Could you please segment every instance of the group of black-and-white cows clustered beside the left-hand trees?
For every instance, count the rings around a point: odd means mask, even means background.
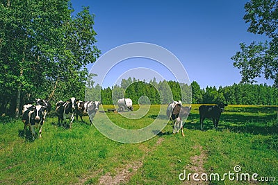
[[[74,117],[78,116],[83,121],[82,116],[90,115],[90,125],[99,109],[99,101],[80,101],[74,97],[66,101],[58,101],[56,103],[55,114],[58,116],[58,125],[64,127],[72,127]],[[35,105],[28,103],[23,105],[22,122],[24,123],[24,136],[26,136],[26,128],[29,127],[33,140],[35,139],[35,128],[39,128],[40,137],[42,137],[42,125],[44,124],[47,113],[51,110],[51,105],[47,100],[36,99]],[[67,119],[70,123],[67,124]]]

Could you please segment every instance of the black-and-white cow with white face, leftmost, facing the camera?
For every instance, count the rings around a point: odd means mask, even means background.
[[[29,127],[32,132],[33,141],[35,140],[35,127],[40,128],[40,137],[42,137],[43,125],[43,110],[42,105],[32,105],[28,107],[22,115],[22,122],[24,123],[24,135],[26,136],[26,127]]]

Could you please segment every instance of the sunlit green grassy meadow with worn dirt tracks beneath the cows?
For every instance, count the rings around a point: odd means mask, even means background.
[[[166,124],[167,105],[162,106],[160,116],[160,105],[152,105],[140,119],[97,112],[94,121],[107,115],[116,125],[132,130],[156,118]],[[30,132],[24,138],[22,121],[1,117],[0,184],[277,184],[277,107],[229,105],[220,117],[218,130],[206,119],[203,132],[198,107],[193,105],[184,125],[186,136],[172,134],[169,122],[152,139],[135,144],[106,138],[94,125],[86,124],[88,116],[83,118],[86,123],[74,121],[72,129],[58,127],[58,119],[48,117],[42,139],[35,141],[31,141]],[[134,108],[139,109],[138,105]],[[140,112],[124,114],[136,116]],[[256,173],[261,181],[236,180],[235,166],[241,168],[238,178],[240,173]],[[186,175],[198,173],[199,178],[202,173],[217,173],[220,179],[194,182],[191,175],[188,182],[179,179],[185,171]],[[234,180],[224,176],[229,172],[235,173]]]

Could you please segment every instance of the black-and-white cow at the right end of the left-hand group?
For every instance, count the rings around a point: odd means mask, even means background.
[[[79,101],[76,103],[76,120],[78,120],[78,116],[80,116],[81,121],[84,122],[82,116],[89,115],[90,125],[92,125],[92,119],[99,109],[99,104],[99,101]]]

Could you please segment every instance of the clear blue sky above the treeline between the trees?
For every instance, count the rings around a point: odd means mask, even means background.
[[[147,42],[172,52],[183,64],[190,82],[201,88],[222,87],[240,82],[239,70],[233,67],[233,56],[240,42],[264,41],[264,35],[247,33],[244,4],[247,1],[72,1],[76,12],[89,6],[95,15],[97,47],[101,55],[122,44]],[[88,65],[88,69],[92,64]],[[112,86],[125,71],[145,67],[166,80],[174,76],[158,62],[132,58],[108,71],[102,85]],[[141,73],[152,78],[152,73]],[[272,85],[271,80],[258,79]]]

